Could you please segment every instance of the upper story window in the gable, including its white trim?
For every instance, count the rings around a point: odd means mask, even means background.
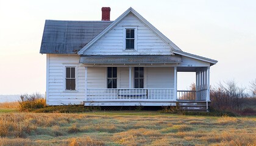
[[[137,27],[124,27],[124,50],[137,50]]]

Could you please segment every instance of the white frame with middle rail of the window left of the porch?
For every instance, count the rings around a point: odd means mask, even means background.
[[[66,68],[75,68],[75,89],[74,90],[69,90],[69,89],[66,89]],[[64,74],[63,74],[63,92],[78,92],[78,88],[77,88],[77,85],[78,85],[78,83],[77,83],[77,79],[78,79],[78,72],[77,72],[77,65],[68,65],[68,66],[63,66],[63,72],[64,72]]]

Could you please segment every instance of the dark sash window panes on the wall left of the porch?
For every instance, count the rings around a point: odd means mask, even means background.
[[[66,68],[66,90],[76,90],[76,68]]]

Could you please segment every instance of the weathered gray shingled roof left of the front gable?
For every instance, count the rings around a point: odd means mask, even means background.
[[[76,54],[113,21],[46,20],[41,54]]]

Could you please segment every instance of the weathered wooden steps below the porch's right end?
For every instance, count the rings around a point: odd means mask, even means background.
[[[204,101],[179,101],[177,102],[180,110],[185,111],[207,111],[207,103]],[[209,105],[210,102],[208,102]]]

